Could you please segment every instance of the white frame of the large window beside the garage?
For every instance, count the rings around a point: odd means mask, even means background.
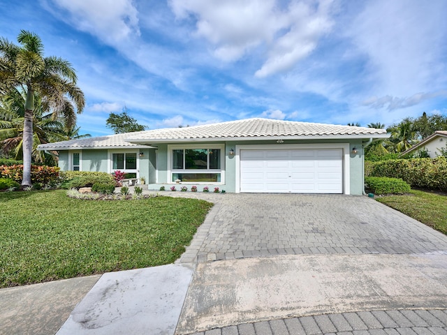
[[[186,169],[184,154],[183,154],[183,169],[174,169],[173,168],[173,152],[174,150],[186,150],[186,149],[207,149],[207,150],[220,150],[220,168],[219,169],[209,169],[210,158],[207,158],[207,169]],[[203,144],[170,144],[168,145],[168,184],[175,184],[173,181],[173,174],[175,173],[195,173],[195,174],[211,174],[216,173],[220,174],[221,181],[182,181],[182,184],[197,184],[197,185],[206,185],[206,184],[216,184],[223,185],[225,184],[225,144],[212,144],[212,143],[203,143]]]

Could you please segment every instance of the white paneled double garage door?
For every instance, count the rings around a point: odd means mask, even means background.
[[[240,191],[343,193],[343,151],[241,150]]]

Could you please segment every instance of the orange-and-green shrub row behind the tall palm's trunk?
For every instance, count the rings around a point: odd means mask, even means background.
[[[1,165],[0,177],[13,179],[17,183],[21,183],[23,179],[23,165]],[[31,183],[33,185],[55,185],[59,181],[59,168],[47,165],[31,165]]]

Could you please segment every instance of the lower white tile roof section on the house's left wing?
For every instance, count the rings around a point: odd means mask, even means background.
[[[144,133],[144,132],[135,132]],[[64,150],[64,149],[119,149],[147,147],[141,144],[126,142],[129,133],[105,135],[98,137],[82,138],[80,140],[68,140],[62,142],[40,144],[39,150]]]

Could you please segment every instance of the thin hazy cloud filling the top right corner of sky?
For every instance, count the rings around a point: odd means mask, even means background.
[[[409,96],[445,87],[447,2],[374,0],[347,27],[378,96]],[[399,98],[397,98],[399,99]],[[391,104],[393,105],[393,104]],[[400,105],[399,101],[397,105]],[[403,103],[405,106],[406,103]]]

